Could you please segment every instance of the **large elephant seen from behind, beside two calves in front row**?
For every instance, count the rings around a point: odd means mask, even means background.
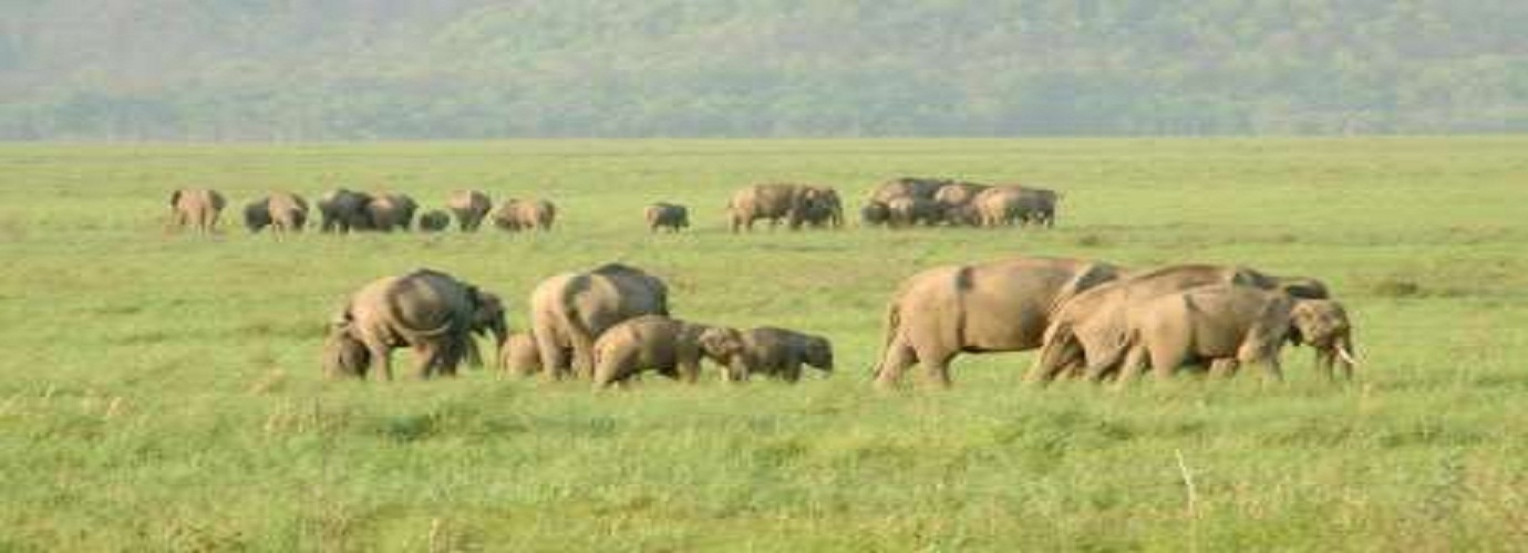
[[[594,339],[640,315],[668,315],[668,284],[631,266],[610,263],[541,281],[530,292],[530,331],[549,377],[588,376]]]

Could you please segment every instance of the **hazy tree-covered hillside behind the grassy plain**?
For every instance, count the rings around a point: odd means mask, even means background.
[[[1523,0],[0,0],[0,139],[1528,131]]]

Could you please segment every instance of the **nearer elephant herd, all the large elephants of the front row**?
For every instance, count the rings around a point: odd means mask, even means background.
[[[529,296],[529,328],[510,333],[503,301],[429,269],[373,281],[332,318],[332,376],[391,379],[390,351],[408,347],[422,377],[481,364],[474,336],[490,335],[512,374],[626,385],[643,371],[695,382],[701,364],[724,380],[796,382],[804,367],[833,371],[833,344],[778,327],[740,330],[674,318],[668,286],[625,264],[555,275]],[[949,385],[960,353],[1039,350],[1025,380],[1131,382],[1144,370],[1230,376],[1258,365],[1282,379],[1285,344],[1309,345],[1328,377],[1352,377],[1352,325],[1325,283],[1239,266],[1177,264],[1126,270],[1103,261],[1022,257],[927,269],[888,304],[877,385],[921,365]]]

